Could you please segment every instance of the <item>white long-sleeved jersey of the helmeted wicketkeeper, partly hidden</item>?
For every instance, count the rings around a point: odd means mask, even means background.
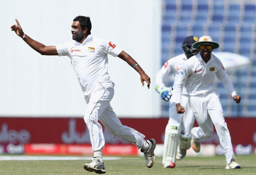
[[[165,62],[164,66],[156,74],[156,84],[164,84],[164,78],[166,78],[171,71],[173,72],[173,80],[175,82],[175,80],[179,76],[180,70],[182,69],[184,62],[187,60],[188,59],[185,54],[180,54]],[[172,87],[173,93],[175,93],[175,83],[173,84]],[[183,87],[182,94],[188,94],[185,86]]]

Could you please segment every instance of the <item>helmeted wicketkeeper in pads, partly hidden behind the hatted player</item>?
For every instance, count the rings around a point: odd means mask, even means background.
[[[164,154],[163,165],[164,168],[174,168],[175,162],[185,157],[187,149],[190,148],[191,135],[190,130],[193,127],[195,118],[192,110],[188,105],[188,93],[183,87],[181,101],[185,107],[186,112],[178,114],[176,112],[175,98],[171,98],[172,93],[175,93],[175,83],[173,90],[171,87],[167,88],[164,85],[164,79],[172,71],[174,75],[174,82],[177,79],[183,64],[193,55],[198,53],[197,49],[191,48],[192,44],[198,41],[196,36],[188,36],[183,40],[182,49],[184,54],[178,55],[169,59],[164,63],[164,66],[156,74],[156,91],[161,98],[170,102],[169,106],[169,121],[165,128],[164,136]],[[179,145],[180,142],[180,145]],[[179,145],[179,151],[177,147]],[[177,152],[177,155],[176,155]]]

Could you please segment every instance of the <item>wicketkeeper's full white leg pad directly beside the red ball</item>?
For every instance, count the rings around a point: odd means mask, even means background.
[[[176,162],[176,153],[180,140],[180,123],[168,123],[164,135],[163,165]]]

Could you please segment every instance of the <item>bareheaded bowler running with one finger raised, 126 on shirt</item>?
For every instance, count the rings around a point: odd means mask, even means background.
[[[90,133],[92,150],[94,156],[90,164],[85,164],[86,171],[98,174],[106,173],[102,159],[104,148],[104,136],[100,122],[110,131],[132,144],[136,145],[144,153],[146,165],[151,168],[155,162],[154,139],[144,140],[145,135],[138,131],[122,125],[117,118],[110,101],[114,95],[114,83],[108,76],[108,54],[118,56],[132,66],[139,74],[142,86],[144,81],[150,85],[150,78],[138,65],[138,63],[121,48],[108,40],[102,40],[91,35],[91,20],[89,17],[77,16],[72,24],[72,39],[56,46],[45,46],[25,34],[18,22],[12,25],[12,31],[21,37],[30,47],[42,55],[68,56],[76,72],[78,81],[82,87],[87,109],[84,114],[84,121]]]

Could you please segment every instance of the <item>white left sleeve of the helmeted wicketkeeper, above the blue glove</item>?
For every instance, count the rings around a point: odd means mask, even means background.
[[[171,59],[164,63],[163,67],[156,74],[156,84],[163,84],[164,78],[166,78],[172,71],[172,61]]]

